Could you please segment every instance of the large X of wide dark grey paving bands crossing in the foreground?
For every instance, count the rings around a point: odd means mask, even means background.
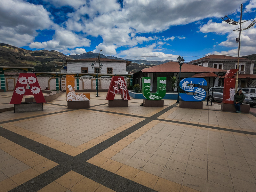
[[[177,105],[177,104],[176,104]],[[176,106],[175,105],[175,106]],[[157,116],[161,116],[166,111],[170,110],[172,106],[169,106],[168,108],[163,109],[162,111],[156,113],[155,115],[151,116],[152,118],[156,118]],[[123,191],[155,191],[153,189],[150,189],[148,187],[145,187],[139,183],[136,183],[134,181],[128,180],[126,178],[123,178],[119,175],[116,175],[115,173],[109,172],[107,170],[104,170],[100,167],[97,167],[95,165],[86,163],[88,159],[92,158],[93,156],[97,155],[101,151],[105,150],[109,146],[115,144],[117,141],[123,139],[127,135],[131,134],[132,132],[138,130],[143,125],[148,124],[153,119],[147,118],[138,124],[133,125],[132,127],[116,134],[115,136],[109,138],[108,140],[105,140],[101,142],[100,144],[94,146],[93,148],[90,148],[86,150],[85,152],[75,156],[71,157],[65,153],[62,153],[58,150],[55,150],[53,148],[50,148],[46,145],[40,144],[34,140],[30,140],[24,136],[21,136],[17,133],[14,133],[12,131],[6,130],[4,128],[0,129],[0,135],[5,137],[8,140],[11,140],[25,148],[28,148],[31,151],[34,151],[35,153],[46,157],[47,159],[50,159],[60,165],[52,168],[51,170],[40,174],[39,176],[23,183],[22,185],[12,189],[11,191],[24,191],[24,189],[28,189],[28,191],[37,191],[46,185],[50,184],[54,180],[58,179],[65,173],[73,170],[75,172],[78,172],[84,176],[86,176],[89,179],[92,179],[108,188],[111,188],[117,192],[123,192]],[[57,151],[57,153],[56,153]],[[54,154],[54,155],[53,155]],[[71,167],[70,167],[71,166]],[[62,167],[61,169],[59,167]],[[56,171],[57,170],[57,171]],[[106,179],[108,178],[108,179]],[[33,184],[31,184],[33,183]],[[125,184],[125,185],[124,185]],[[124,188],[124,186],[126,186]]]

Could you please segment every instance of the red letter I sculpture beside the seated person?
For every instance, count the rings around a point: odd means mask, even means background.
[[[224,77],[223,103],[234,103],[236,79],[232,78],[238,69],[229,69]]]

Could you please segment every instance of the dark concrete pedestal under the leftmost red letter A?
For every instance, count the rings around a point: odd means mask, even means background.
[[[33,111],[43,111],[43,103],[29,102],[21,104],[13,104],[14,113],[23,113],[23,112],[33,112]]]

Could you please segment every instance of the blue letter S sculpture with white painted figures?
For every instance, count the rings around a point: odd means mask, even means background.
[[[207,82],[204,78],[195,78],[195,77],[189,77],[182,79],[180,81],[180,89],[187,91],[187,92],[193,92],[196,93],[196,95],[188,95],[187,93],[180,93],[179,96],[183,101],[202,101],[205,99],[206,92],[204,89],[200,87],[192,87],[188,86],[188,84],[199,84],[199,85],[207,85]]]

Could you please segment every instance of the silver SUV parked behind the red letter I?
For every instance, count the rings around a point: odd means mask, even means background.
[[[213,95],[212,95],[212,89],[213,89]],[[251,95],[246,92],[244,92],[244,101],[243,103],[250,104],[251,107],[256,105],[256,95]],[[223,87],[213,87],[209,89],[209,95],[207,100],[209,102],[211,101],[222,101],[223,98]]]

